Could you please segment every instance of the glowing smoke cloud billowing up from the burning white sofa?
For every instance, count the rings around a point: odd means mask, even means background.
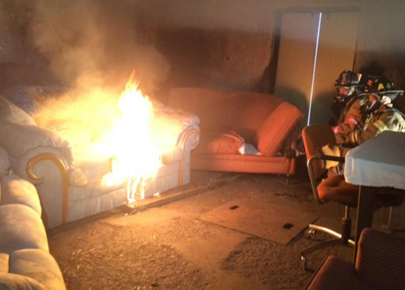
[[[68,87],[43,102],[33,117],[71,143],[105,139],[132,71],[143,94],[153,95],[166,79],[170,66],[154,48],[153,22],[137,1],[37,0],[30,5],[32,42]]]

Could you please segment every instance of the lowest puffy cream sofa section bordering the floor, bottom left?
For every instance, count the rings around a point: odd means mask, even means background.
[[[10,273],[31,277],[47,289],[66,289],[55,259],[39,249],[22,249],[10,254]]]

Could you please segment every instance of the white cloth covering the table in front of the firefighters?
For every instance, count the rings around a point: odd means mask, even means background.
[[[405,190],[405,133],[384,131],[350,150],[344,172],[351,184]]]

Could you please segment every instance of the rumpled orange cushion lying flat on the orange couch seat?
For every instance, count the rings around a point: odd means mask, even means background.
[[[193,151],[193,154],[239,154],[239,148],[243,143],[241,136],[233,131],[207,132],[202,134],[200,145]]]

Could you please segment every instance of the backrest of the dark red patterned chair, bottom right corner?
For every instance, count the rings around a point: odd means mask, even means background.
[[[405,289],[405,239],[364,229],[359,240],[356,276],[373,289]]]

